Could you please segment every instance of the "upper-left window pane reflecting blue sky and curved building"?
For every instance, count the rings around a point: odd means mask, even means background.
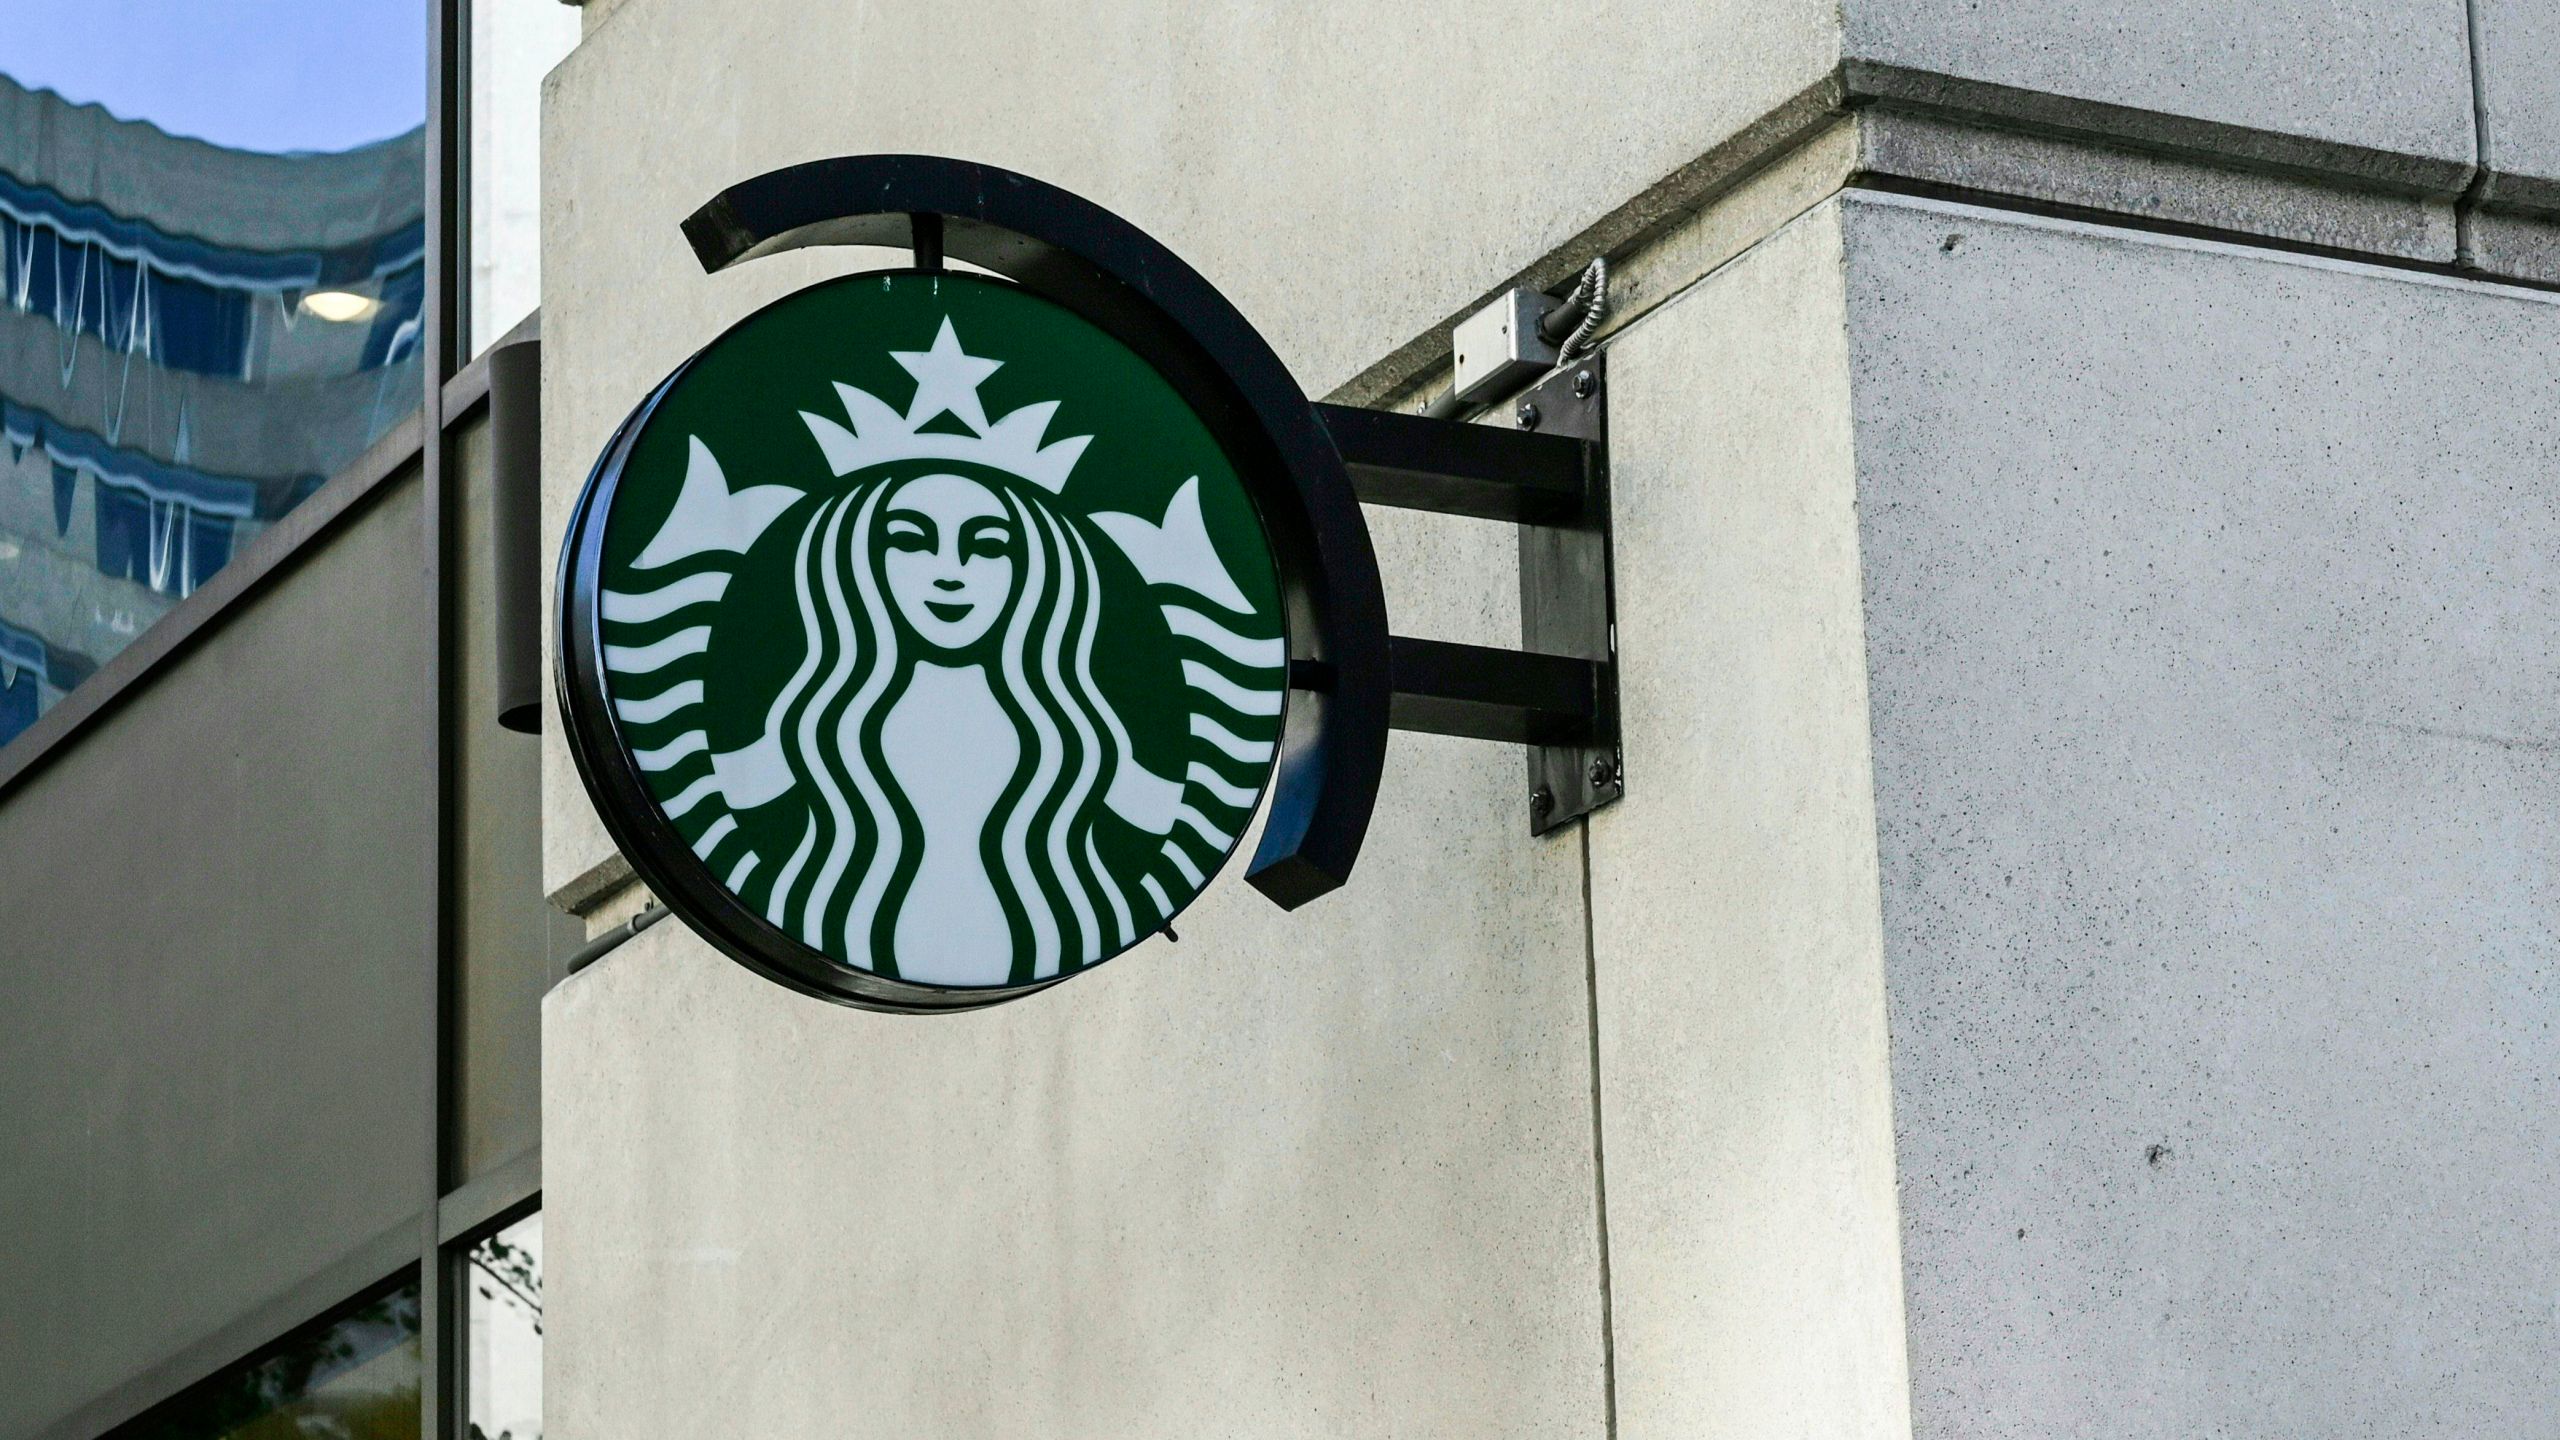
[[[422,392],[420,0],[13,0],[0,743]]]

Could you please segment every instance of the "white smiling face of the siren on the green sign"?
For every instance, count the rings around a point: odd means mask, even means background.
[[[988,487],[957,474],[911,479],[888,500],[881,530],[888,594],[927,646],[960,651],[996,625],[1021,546]]]

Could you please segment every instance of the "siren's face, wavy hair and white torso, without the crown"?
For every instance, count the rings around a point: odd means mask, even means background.
[[[806,656],[773,715],[814,802],[768,915],[924,984],[1019,984],[1134,940],[1147,894],[1093,828],[1162,835],[1183,787],[1137,761],[1093,679],[1101,569],[1075,520],[996,477],[865,479],[812,512],[796,574]]]

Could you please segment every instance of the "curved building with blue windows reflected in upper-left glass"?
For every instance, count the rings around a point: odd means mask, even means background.
[[[0,743],[417,410],[422,164],[0,77]]]

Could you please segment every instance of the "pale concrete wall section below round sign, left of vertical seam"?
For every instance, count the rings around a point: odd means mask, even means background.
[[[1400,625],[1518,635],[1510,536],[1380,518]],[[1597,1437],[1577,835],[1398,735],[1354,884],[1229,876],[960,1017],[658,925],[545,1004],[545,1432]]]

